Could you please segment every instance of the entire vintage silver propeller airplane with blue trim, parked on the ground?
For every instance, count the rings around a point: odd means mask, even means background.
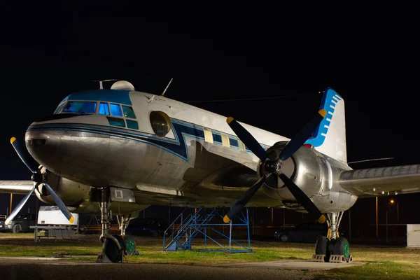
[[[344,100],[331,88],[292,139],[137,92],[120,80],[111,89],[101,83],[99,90],[70,94],[54,114],[28,127],[27,149],[14,137],[10,142],[32,176],[0,181],[3,193],[27,193],[6,223],[32,193],[57,204],[69,221],[71,212],[101,213],[102,257],[113,262],[130,241],[130,218],[151,204],[230,207],[225,223],[243,207],[307,211],[329,228],[316,241],[315,255],[349,261],[349,242],[338,228],[358,197],[420,191],[420,165],[347,165]],[[107,230],[111,211],[123,216],[121,235]]]

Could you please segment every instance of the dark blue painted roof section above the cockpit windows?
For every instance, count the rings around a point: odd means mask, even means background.
[[[62,102],[68,99],[115,102],[132,105],[129,93],[129,90],[87,90],[70,94],[68,97],[64,98]]]

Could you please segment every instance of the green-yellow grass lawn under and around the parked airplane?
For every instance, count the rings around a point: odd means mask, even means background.
[[[195,239],[193,249],[204,248],[203,239]],[[267,260],[310,260],[314,244],[251,241],[253,253],[223,253],[199,251],[162,251],[162,239],[136,237],[140,255],[127,257],[129,262],[209,265],[225,262],[260,262]],[[207,248],[220,249],[213,243]],[[243,244],[246,244],[244,242]],[[228,244],[226,244],[228,246]],[[235,247],[238,248],[238,247]],[[34,242],[33,234],[0,234],[0,256],[45,255],[73,253],[85,255],[71,260],[94,261],[102,251],[97,235],[80,235],[79,239],[41,239]],[[354,262],[365,265],[341,269],[308,272],[314,279],[420,279],[420,249],[391,246],[351,245]]]

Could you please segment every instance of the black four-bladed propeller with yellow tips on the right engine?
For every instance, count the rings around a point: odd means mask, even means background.
[[[309,123],[307,123],[307,125],[305,125],[302,130],[300,130],[300,132],[298,132],[295,137],[288,142],[286,147],[283,148],[283,151],[281,151],[279,157],[276,159],[269,158],[258,141],[236,120],[231,117],[226,120],[230,128],[232,128],[235,134],[237,134],[237,137],[239,137],[249,150],[251,150],[251,152],[253,152],[261,160],[261,164],[265,167],[265,174],[263,174],[262,177],[251,188],[249,188],[241,198],[239,198],[228,214],[225,215],[223,218],[225,223],[229,223],[230,220],[232,220],[232,218],[245,207],[269,176],[275,176],[275,181],[277,181],[276,176],[279,176],[297,202],[300,202],[302,207],[304,207],[309,214],[318,219],[319,223],[325,222],[325,216],[323,216],[321,211],[319,211],[314,202],[312,202],[309,197],[298,186],[296,186],[296,184],[293,183],[288,176],[286,176],[286,174],[281,172],[280,162],[290,158],[304,144],[304,142],[311,137],[311,134],[314,130],[316,130],[316,127],[318,127],[323,118],[325,118],[326,113],[327,112],[324,109],[318,111],[314,118],[312,118]]]

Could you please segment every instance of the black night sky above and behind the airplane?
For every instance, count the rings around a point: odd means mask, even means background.
[[[10,137],[23,141],[66,95],[105,78],[154,94],[174,78],[165,96],[286,137],[332,87],[346,104],[349,162],[394,158],[353,168],[419,163],[414,2],[116,3],[3,4],[0,179],[30,176]]]

